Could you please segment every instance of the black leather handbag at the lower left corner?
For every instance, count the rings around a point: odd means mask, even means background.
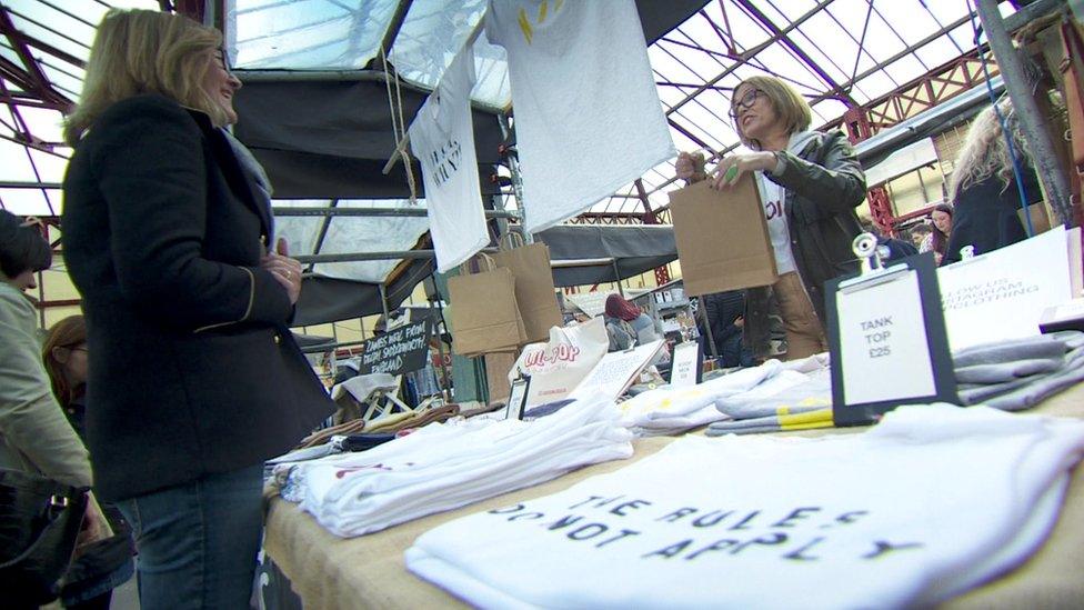
[[[0,591],[13,607],[57,598],[87,510],[87,489],[0,469]]]

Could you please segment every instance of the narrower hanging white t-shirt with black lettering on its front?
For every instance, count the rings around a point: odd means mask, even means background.
[[[464,49],[410,126],[410,146],[422,164],[429,232],[436,270],[449,271],[490,241],[482,211],[471,120],[474,52]]]

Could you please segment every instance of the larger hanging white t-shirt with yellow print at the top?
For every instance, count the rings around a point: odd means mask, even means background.
[[[491,1],[485,36],[508,51],[528,231],[676,154],[633,0]]]

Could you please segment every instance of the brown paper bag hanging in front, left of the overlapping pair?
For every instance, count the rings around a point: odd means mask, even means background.
[[[475,261],[480,261],[478,268],[472,269]],[[513,350],[528,342],[515,301],[515,279],[486,254],[460,266],[460,274],[448,279],[448,292],[455,353]]]

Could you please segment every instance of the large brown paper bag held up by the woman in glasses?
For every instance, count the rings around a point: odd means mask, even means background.
[[[670,192],[685,294],[775,283],[775,254],[753,177],[720,191],[707,181]]]

